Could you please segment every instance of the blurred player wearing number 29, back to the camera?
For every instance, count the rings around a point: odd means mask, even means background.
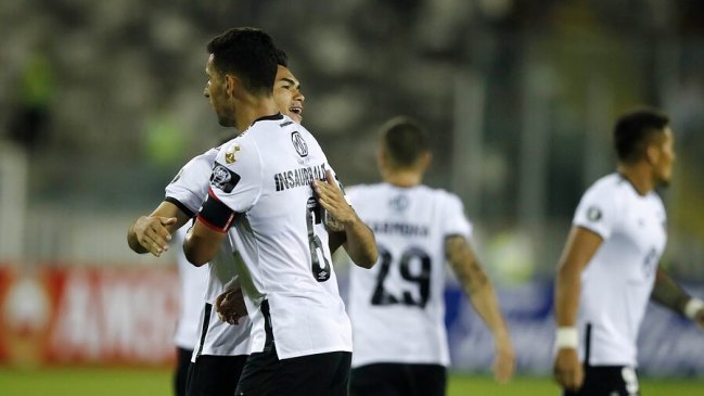
[[[444,314],[445,264],[494,334],[495,374],[508,381],[514,353],[491,283],[472,247],[472,226],[452,193],[423,186],[427,137],[407,117],[382,129],[382,182],[347,189],[376,237],[379,263],[350,269],[349,316],[355,396],[445,395],[450,357]]]

